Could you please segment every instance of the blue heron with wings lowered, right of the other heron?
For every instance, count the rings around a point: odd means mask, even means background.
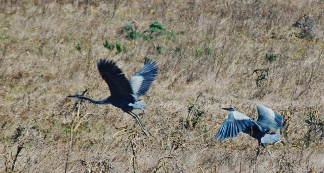
[[[254,121],[254,118],[250,118],[236,111],[233,107],[222,108],[228,110],[230,113],[218,129],[214,138],[222,141],[226,138],[233,138],[240,132],[243,132],[258,140],[259,149],[257,156],[260,152],[260,145],[265,148],[271,156],[270,151],[264,144],[276,142],[280,139],[280,133],[270,133],[270,130],[276,131],[278,128],[282,130],[282,116],[264,105],[257,105],[257,108],[259,113],[257,121]]]

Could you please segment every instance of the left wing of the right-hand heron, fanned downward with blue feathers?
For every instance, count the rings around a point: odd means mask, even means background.
[[[221,127],[218,129],[215,139],[222,141],[226,138],[233,138],[242,131],[247,131],[248,128],[255,125],[255,121],[245,114],[238,111],[231,111],[228,118],[224,120]]]

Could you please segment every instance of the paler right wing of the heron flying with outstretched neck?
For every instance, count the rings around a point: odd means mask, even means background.
[[[142,67],[142,69],[139,72],[135,73],[130,79],[133,93],[136,98],[144,95],[148,91],[156,74],[156,61],[152,61],[152,59],[150,58],[145,59],[144,66]]]

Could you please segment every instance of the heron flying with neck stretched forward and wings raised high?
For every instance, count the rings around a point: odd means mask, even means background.
[[[97,65],[101,77],[109,86],[111,95],[103,100],[93,100],[80,94],[68,97],[85,99],[92,103],[101,105],[111,104],[120,108],[124,112],[132,115],[132,117],[139,123],[144,134],[149,136],[148,131],[144,128],[139,116],[132,111],[133,109],[144,110],[145,108],[145,102],[143,100],[138,100],[138,98],[145,95],[156,77],[156,61],[146,58],[142,69],[135,73],[130,80],[126,78],[125,74],[112,61],[100,59]]]

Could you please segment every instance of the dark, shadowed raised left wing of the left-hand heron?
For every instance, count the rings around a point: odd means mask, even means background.
[[[100,59],[97,63],[101,77],[109,86],[112,97],[119,97],[134,102],[133,90],[129,80],[114,62]]]

